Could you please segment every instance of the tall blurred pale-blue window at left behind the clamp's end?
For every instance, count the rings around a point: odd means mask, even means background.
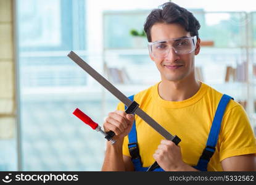
[[[91,130],[86,133],[72,116],[75,107],[100,105],[99,98],[81,93],[86,74],[67,57],[76,50],[86,58],[85,6],[83,0],[17,1],[22,170],[99,166],[88,166],[89,159],[83,157],[93,152],[85,144]],[[88,97],[86,105],[82,96]]]

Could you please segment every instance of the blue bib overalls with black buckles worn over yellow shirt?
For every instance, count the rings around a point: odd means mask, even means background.
[[[129,97],[131,101],[133,101],[133,98],[134,98],[134,95]],[[202,155],[200,156],[197,165],[194,167],[197,170],[207,171],[207,165],[210,161],[210,158],[215,152],[215,146],[218,141],[218,134],[220,133],[223,114],[225,112],[226,105],[228,104],[230,99],[233,99],[233,97],[230,97],[226,94],[223,94],[223,96],[220,99],[215,116],[213,118],[212,127],[210,129],[210,133],[207,139],[205,149],[202,152]],[[125,106],[125,109],[126,108],[127,107]],[[139,155],[135,120],[133,122],[131,131],[128,134],[128,139],[129,139],[128,149],[130,151],[131,160],[133,161],[135,171],[147,171],[147,168],[149,167],[142,167],[141,156]],[[155,168],[154,171],[164,171],[164,170],[162,168]]]

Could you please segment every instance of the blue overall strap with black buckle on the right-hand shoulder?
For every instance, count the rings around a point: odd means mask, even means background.
[[[230,101],[230,99],[233,99],[233,97],[230,97],[226,94],[223,94],[223,96],[220,99],[215,116],[213,118],[213,122],[212,122],[210,133],[207,139],[206,147],[202,152],[202,155],[199,158],[199,161],[196,167],[194,167],[197,170],[207,171],[207,165],[210,161],[210,158],[212,158],[212,155],[215,152],[215,147],[218,142],[218,135],[220,133],[221,122],[226,109],[226,105],[228,105],[228,102]]]

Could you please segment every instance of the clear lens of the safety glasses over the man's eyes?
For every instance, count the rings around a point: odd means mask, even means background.
[[[170,49],[173,49],[176,54],[189,54],[196,49],[196,36],[149,43],[149,52],[157,58],[166,57]]]

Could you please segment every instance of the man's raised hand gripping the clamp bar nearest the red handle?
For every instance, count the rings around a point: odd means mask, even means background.
[[[105,132],[114,131],[114,139],[116,141],[122,141],[130,133],[133,121],[133,114],[127,114],[122,110],[115,110],[115,112],[110,112],[109,116],[105,118],[103,128]]]

